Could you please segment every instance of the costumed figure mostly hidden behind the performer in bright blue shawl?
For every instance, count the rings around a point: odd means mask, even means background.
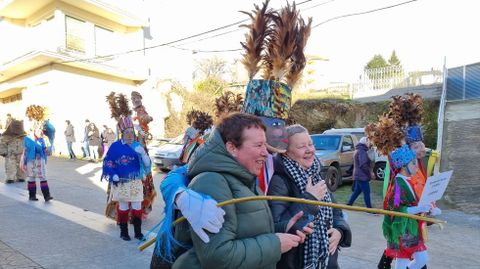
[[[133,110],[135,111],[135,116],[133,117],[134,122],[138,123],[135,125],[137,132],[137,141],[143,145],[145,152],[148,155],[147,142],[152,139],[152,135],[149,133],[148,124],[153,120],[153,118],[147,113],[145,107],[142,104],[142,95],[139,92],[132,91],[131,99],[133,104]],[[155,191],[155,186],[153,184],[153,175],[152,172],[149,172],[143,180],[143,218],[145,219],[152,211],[152,205],[157,197],[157,192]]]

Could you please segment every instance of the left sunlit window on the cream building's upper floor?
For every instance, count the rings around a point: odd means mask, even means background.
[[[87,24],[69,16],[65,16],[65,32],[67,49],[85,52],[88,35]]]

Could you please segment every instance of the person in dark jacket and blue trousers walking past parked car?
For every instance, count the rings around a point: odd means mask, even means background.
[[[353,155],[353,192],[348,200],[347,205],[353,205],[360,193],[363,192],[363,199],[368,208],[372,208],[370,201],[370,180],[372,179],[372,171],[370,170],[370,159],[367,151],[370,148],[370,141],[366,137],[362,137],[355,147]]]

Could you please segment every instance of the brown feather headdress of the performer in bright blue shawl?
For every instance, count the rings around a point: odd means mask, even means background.
[[[107,102],[112,113],[111,116],[118,122],[120,131],[123,132],[127,128],[133,128],[132,110],[125,94],[111,92],[107,96]]]

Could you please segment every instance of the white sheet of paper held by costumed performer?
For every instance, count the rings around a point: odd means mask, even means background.
[[[440,200],[447,189],[452,173],[453,170],[450,170],[429,177],[423,188],[418,205],[428,205],[429,203]]]

